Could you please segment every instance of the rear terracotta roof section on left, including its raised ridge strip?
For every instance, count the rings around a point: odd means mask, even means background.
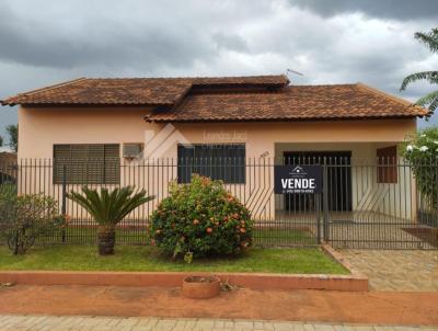
[[[198,78],[82,78],[1,101],[15,104],[173,105],[192,85],[284,87],[286,76]]]

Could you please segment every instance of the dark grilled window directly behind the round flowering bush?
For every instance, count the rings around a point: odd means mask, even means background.
[[[188,183],[193,173],[229,184],[245,183],[244,144],[178,145],[177,158],[178,183]]]

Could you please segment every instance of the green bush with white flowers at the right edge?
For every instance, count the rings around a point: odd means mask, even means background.
[[[438,127],[408,137],[402,145],[402,155],[412,167],[419,192],[438,210]]]

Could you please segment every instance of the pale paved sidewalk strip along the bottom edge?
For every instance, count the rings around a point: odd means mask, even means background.
[[[61,317],[61,316],[0,316],[0,330],[26,331],[410,331],[438,330],[438,328],[366,326],[366,324],[328,324],[263,320],[222,320],[222,319],[164,319],[164,318],[119,318],[119,317]]]

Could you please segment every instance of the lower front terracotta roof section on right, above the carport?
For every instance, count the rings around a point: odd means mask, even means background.
[[[270,93],[188,94],[149,122],[293,121],[428,115],[428,111],[358,84],[291,85]]]

